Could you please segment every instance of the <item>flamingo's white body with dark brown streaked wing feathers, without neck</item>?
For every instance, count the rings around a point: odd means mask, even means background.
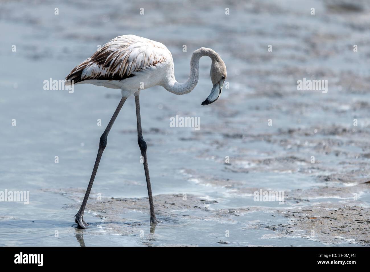
[[[158,74],[171,64],[171,52],[162,43],[135,35],[118,36],[76,66],[66,80],[115,89],[147,89],[160,83]],[[135,78],[128,80],[131,77]]]

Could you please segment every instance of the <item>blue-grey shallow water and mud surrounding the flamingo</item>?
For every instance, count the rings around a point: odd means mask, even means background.
[[[0,190],[30,192],[29,205],[0,202],[0,245],[369,245],[369,25],[360,0],[0,1]],[[155,231],[130,97],[80,230],[74,215],[121,94],[48,91],[44,80],[125,34],[165,44],[179,82],[192,52],[212,48],[229,89],[201,106],[212,89],[203,57],[191,93],[141,92]],[[297,90],[303,78],[328,92]],[[201,129],[170,127],[176,115]],[[285,192],[284,205],[254,201],[260,189]]]

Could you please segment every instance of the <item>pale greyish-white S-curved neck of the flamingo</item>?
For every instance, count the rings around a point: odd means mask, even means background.
[[[184,83],[179,83],[175,79],[174,70],[172,70],[171,77],[162,86],[168,90],[168,92],[174,94],[186,94],[190,93],[198,83],[199,79],[199,59],[203,56],[208,56],[213,61],[218,57],[218,54],[210,48],[199,48],[195,50],[190,60],[190,76]]]

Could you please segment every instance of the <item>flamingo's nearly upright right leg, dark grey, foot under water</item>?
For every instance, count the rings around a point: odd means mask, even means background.
[[[154,212],[152,187],[150,185],[148,160],[147,160],[147,143],[144,141],[144,139],[142,137],[141,117],[140,117],[140,102],[139,102],[139,95],[138,94],[135,95],[135,105],[136,105],[136,120],[137,120],[137,125],[138,125],[138,144],[139,144],[139,147],[140,147],[141,156],[143,157],[143,160],[144,160],[145,179],[147,180],[147,187],[148,187],[149,206],[150,206],[150,222],[151,222],[151,224],[156,224],[156,223],[159,223],[159,221],[155,217],[155,212]]]

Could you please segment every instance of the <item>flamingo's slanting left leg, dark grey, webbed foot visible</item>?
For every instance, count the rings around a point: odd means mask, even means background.
[[[114,123],[115,119],[117,118],[117,115],[120,112],[120,110],[121,110],[123,104],[125,103],[126,99],[127,99],[127,97],[122,97],[120,103],[117,106],[117,109],[115,110],[111,120],[108,123],[107,128],[104,130],[103,134],[100,137],[98,155],[96,156],[95,165],[94,165],[94,169],[92,170],[92,173],[91,173],[90,182],[89,182],[89,185],[87,186],[87,190],[86,190],[86,193],[85,193],[84,200],[81,204],[81,208],[80,208],[80,210],[78,210],[77,214],[75,215],[75,218],[76,218],[75,222],[78,224],[78,226],[80,228],[85,229],[88,226],[88,224],[85,222],[85,220],[83,218],[86,203],[87,203],[87,200],[88,200],[89,195],[90,195],[92,183],[94,182],[95,175],[96,175],[96,172],[98,170],[98,166],[99,166],[99,163],[100,163],[101,156],[103,155],[103,151],[104,151],[105,147],[107,146],[108,133],[110,132],[110,130],[113,126],[113,123]]]

